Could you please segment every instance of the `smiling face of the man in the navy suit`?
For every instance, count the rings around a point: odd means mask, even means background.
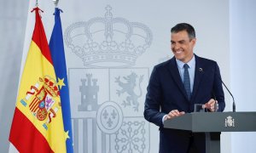
[[[171,35],[172,53],[176,59],[188,63],[193,58],[193,48],[196,39],[190,39],[187,31],[178,31]]]

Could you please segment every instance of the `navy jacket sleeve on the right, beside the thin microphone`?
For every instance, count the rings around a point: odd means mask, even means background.
[[[224,111],[225,101],[224,101],[224,91],[222,87],[220,71],[218,68],[218,64],[215,65],[215,76],[214,76],[214,85],[213,90],[218,101],[218,111]]]

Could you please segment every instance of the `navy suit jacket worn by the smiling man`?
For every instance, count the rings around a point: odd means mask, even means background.
[[[190,101],[183,87],[175,57],[154,66],[147,89],[144,117],[148,122],[160,127],[160,143],[165,144],[165,141],[168,141],[166,144],[169,145],[168,147],[179,145],[173,141],[177,139],[175,138],[177,135],[175,136],[171,129],[163,127],[162,118],[170,111],[193,112],[195,104],[205,104],[214,97],[218,100],[218,111],[224,111],[224,91],[220,71],[218,64],[211,59],[195,55],[195,80]]]

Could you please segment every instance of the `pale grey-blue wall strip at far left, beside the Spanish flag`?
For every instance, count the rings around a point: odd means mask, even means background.
[[[20,78],[27,8],[27,0],[0,0],[0,152],[9,150],[9,128]]]

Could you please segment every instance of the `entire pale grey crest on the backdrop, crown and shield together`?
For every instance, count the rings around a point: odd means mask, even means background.
[[[131,67],[152,43],[148,26],[113,17],[71,24],[67,51],[84,66],[69,68],[75,152],[149,152],[149,123],[143,118],[148,67]]]

